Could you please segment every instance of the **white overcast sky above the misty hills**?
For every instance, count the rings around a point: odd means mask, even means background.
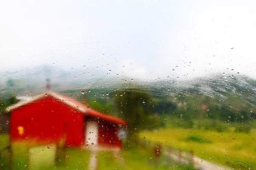
[[[147,78],[227,68],[256,78],[255,6],[253,0],[1,0],[0,72],[55,63]]]

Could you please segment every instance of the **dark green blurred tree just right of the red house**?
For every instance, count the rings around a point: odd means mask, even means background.
[[[139,85],[131,85],[116,96],[116,105],[119,117],[128,123],[128,138],[136,136],[141,129],[148,128],[155,119],[151,119],[150,94]]]

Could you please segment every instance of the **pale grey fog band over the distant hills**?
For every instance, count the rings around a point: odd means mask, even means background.
[[[156,96],[179,94],[191,97],[193,94],[204,94],[224,102],[227,98],[226,94],[232,94],[239,96],[250,105],[256,103],[256,80],[232,71],[192,78],[186,78],[186,75],[180,78],[172,74],[167,77],[140,78],[102,68],[70,68],[70,71],[67,71],[55,65],[44,65],[12,72],[2,71],[1,77],[2,89],[11,90],[14,95],[29,92],[43,93],[46,90],[46,79],[49,78],[52,91],[89,88],[127,90],[140,85]],[[12,80],[12,83],[8,84],[8,80]]]

